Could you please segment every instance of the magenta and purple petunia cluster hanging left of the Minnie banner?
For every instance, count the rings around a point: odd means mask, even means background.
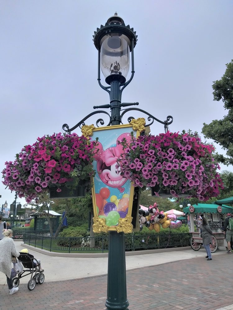
[[[60,184],[73,178],[76,182],[88,179],[93,174],[94,144],[75,133],[44,135],[33,145],[26,145],[14,162],[5,162],[2,183],[20,198],[26,197],[27,203],[38,193],[48,192],[52,184],[57,184],[60,192]]]

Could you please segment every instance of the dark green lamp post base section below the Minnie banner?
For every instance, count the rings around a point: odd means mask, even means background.
[[[107,310],[128,310],[124,232],[109,232]]]

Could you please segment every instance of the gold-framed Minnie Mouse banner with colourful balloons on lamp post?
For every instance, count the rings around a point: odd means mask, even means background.
[[[96,233],[133,231],[131,215],[135,187],[116,167],[117,159],[124,153],[117,141],[126,139],[130,142],[131,133],[138,137],[145,130],[144,125],[145,119],[138,118],[126,125],[82,126],[83,135],[91,136],[93,140],[98,138],[93,162],[96,174],[92,179],[93,231]]]

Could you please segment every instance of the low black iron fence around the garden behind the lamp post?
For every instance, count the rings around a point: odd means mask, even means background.
[[[104,252],[108,251],[108,235],[100,237],[50,237],[49,233],[24,233],[23,242],[53,252]],[[190,233],[158,233],[126,235],[126,251],[165,249],[190,246]]]

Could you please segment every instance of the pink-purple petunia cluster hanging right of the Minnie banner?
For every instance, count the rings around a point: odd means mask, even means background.
[[[197,134],[167,132],[157,136],[132,134],[132,141],[118,141],[124,155],[117,168],[134,186],[170,189],[173,197],[186,194],[206,201],[219,195],[223,188],[220,169],[213,158],[214,147],[203,144]]]

